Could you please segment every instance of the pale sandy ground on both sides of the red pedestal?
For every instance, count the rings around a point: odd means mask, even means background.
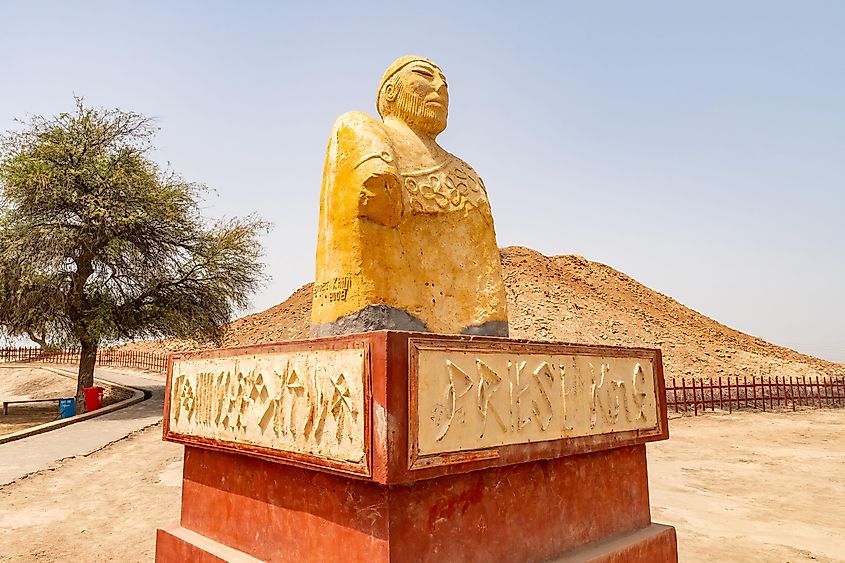
[[[648,446],[653,519],[676,526],[681,561],[845,561],[843,423],[673,419]],[[155,528],[179,518],[181,460],[156,425],[0,487],[0,561],[152,561]]]

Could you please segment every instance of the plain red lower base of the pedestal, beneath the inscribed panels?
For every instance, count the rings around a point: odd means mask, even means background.
[[[156,561],[675,561],[647,483],[644,446],[406,485],[188,447]]]

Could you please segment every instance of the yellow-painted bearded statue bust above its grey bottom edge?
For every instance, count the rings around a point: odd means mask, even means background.
[[[391,100],[396,90],[404,94]],[[312,323],[371,304],[404,309],[435,332],[506,321],[484,183],[434,140],[446,123],[445,77],[430,61],[400,59],[378,104],[384,121],[351,112],[332,129]]]

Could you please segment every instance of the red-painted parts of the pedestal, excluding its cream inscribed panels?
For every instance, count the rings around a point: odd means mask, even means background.
[[[417,425],[426,420],[415,412],[413,395],[427,375],[415,363],[415,342],[454,345],[458,354],[471,348],[479,358],[486,349],[638,355],[653,362],[656,424],[420,455]],[[648,500],[644,442],[668,437],[659,351],[380,332],[203,354],[362,344],[369,404],[364,469],[174,432],[170,414],[178,397],[169,370],[165,438],[186,444],[182,512],[180,525],[158,530],[156,561],[677,560],[674,529],[651,522]],[[171,362],[183,358],[197,356]],[[517,415],[514,427],[519,422]]]

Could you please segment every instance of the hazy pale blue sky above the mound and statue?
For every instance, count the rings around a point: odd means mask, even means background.
[[[263,309],[311,281],[334,119],[403,54],[449,80],[441,143],[500,246],[580,254],[720,322],[845,361],[845,2],[0,1],[0,129],[95,106],[258,212]]]

